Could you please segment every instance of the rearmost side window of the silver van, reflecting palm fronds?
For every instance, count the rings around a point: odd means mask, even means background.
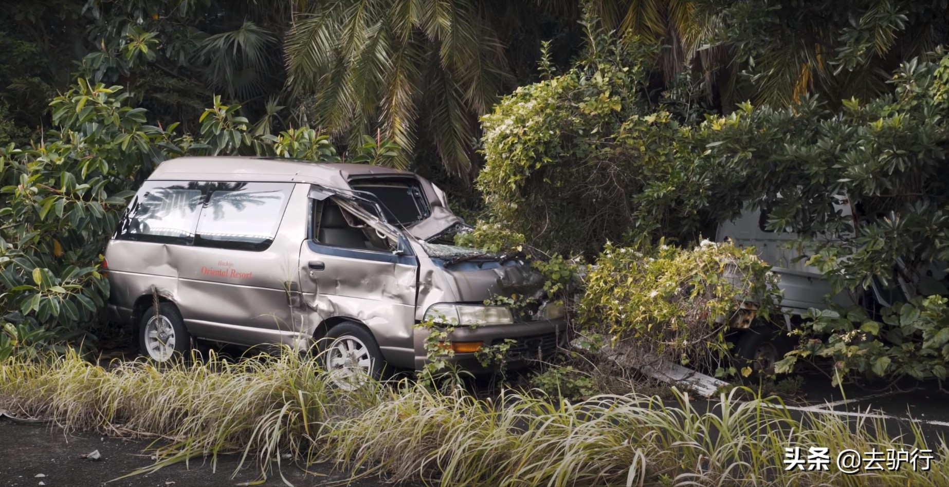
[[[125,210],[116,238],[190,245],[203,199],[199,183],[145,182]]]

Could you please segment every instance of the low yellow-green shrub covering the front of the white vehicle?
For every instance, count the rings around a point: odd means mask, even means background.
[[[778,295],[770,269],[730,243],[652,251],[607,243],[586,274],[577,319],[642,351],[712,367],[728,356],[725,332],[739,302],[757,302],[767,319]]]

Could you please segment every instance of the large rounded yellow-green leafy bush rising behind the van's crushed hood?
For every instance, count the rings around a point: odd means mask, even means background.
[[[709,197],[729,174],[711,171],[688,128],[650,105],[652,46],[589,36],[586,59],[482,117],[477,187],[493,225],[561,254],[595,255],[607,241],[698,241],[718,213],[739,207]]]

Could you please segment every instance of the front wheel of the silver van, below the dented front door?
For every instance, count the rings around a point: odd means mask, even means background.
[[[379,380],[385,362],[372,334],[352,321],[329,329],[320,356],[329,379],[340,388],[358,388],[367,379]]]

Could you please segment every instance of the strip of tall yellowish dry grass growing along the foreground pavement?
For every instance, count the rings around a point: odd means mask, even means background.
[[[600,396],[571,404],[508,393],[482,401],[461,389],[368,383],[334,388],[296,353],[239,363],[212,355],[158,369],[145,362],[108,370],[75,355],[0,366],[0,407],[67,428],[156,437],[158,460],[225,453],[261,476],[336,461],[393,481],[443,485],[949,485],[949,448],[931,442],[928,472],[845,475],[785,470],[785,448],[831,452],[926,448],[916,428],[892,437],[882,421],[792,418],[776,399],[724,395],[702,410],[679,394]],[[359,468],[364,467],[364,468]]]

